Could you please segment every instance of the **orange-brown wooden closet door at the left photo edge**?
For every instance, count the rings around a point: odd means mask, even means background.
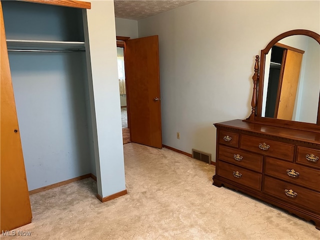
[[[0,231],[5,232],[30,223],[32,215],[6,48],[1,2],[0,28]]]

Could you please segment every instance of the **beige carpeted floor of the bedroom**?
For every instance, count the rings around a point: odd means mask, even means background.
[[[30,196],[21,239],[319,239],[303,219],[225,187],[214,166],[166,148],[123,145],[128,194],[101,203],[91,178]],[[15,239],[2,236],[1,239]]]

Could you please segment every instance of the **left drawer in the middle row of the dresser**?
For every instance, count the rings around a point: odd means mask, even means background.
[[[219,145],[218,158],[251,170],[262,172],[263,155]]]

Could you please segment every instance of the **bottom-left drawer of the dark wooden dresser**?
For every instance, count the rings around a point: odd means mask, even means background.
[[[232,165],[223,161],[218,162],[217,174],[244,186],[261,190],[262,174]]]

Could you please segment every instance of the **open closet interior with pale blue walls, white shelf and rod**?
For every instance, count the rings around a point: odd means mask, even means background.
[[[29,194],[95,175],[82,9],[1,3]]]

